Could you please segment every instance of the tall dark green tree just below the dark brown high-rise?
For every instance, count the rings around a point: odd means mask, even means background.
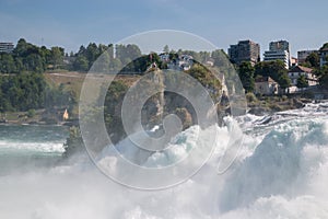
[[[255,87],[254,80],[255,68],[248,61],[243,61],[238,68],[238,74],[245,91],[253,92]]]

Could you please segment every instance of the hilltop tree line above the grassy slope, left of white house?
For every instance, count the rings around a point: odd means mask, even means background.
[[[78,53],[65,53],[65,48],[36,46],[24,38],[19,39],[12,53],[0,54],[0,73],[44,72],[65,69],[70,71],[89,71],[94,61],[102,55],[97,67],[102,71],[118,70],[141,56],[137,45],[103,45],[90,43]]]

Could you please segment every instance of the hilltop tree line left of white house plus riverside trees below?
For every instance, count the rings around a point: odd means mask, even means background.
[[[77,91],[67,90],[65,84],[47,84],[43,73],[86,72],[101,55],[102,70],[109,71],[131,62],[141,51],[136,45],[117,45],[114,56],[113,45],[91,43],[68,55],[62,47],[38,47],[21,38],[12,53],[0,53],[0,112],[72,108],[77,104]]]

